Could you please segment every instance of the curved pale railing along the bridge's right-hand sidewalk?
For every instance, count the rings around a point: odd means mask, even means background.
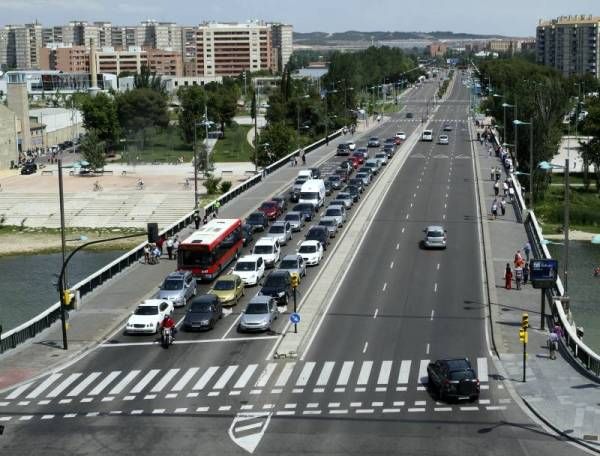
[[[494,134],[494,141],[499,145],[498,135]],[[537,221],[537,217],[532,210],[527,208],[521,190],[519,180],[510,175],[512,185],[516,195],[516,209],[519,211],[523,226],[527,232],[527,237],[530,240],[532,252],[537,258],[552,258],[548,247],[542,243],[544,239],[542,229]],[[560,278],[556,280],[554,289],[547,290],[546,299],[551,303],[552,316],[554,322],[563,328],[564,344],[568,348],[569,353],[579,362],[583,368],[589,373],[595,375],[600,380],[600,356],[588,347],[577,335],[577,328],[571,323],[569,312],[563,307],[561,298],[564,296],[564,289]]]

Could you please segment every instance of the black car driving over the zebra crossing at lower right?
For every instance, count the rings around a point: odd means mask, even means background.
[[[427,366],[428,387],[439,400],[475,401],[479,398],[479,379],[467,358],[441,359]]]

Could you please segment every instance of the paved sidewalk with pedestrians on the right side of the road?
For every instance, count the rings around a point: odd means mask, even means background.
[[[473,128],[472,134],[475,135]],[[489,156],[486,146],[476,143],[476,165],[479,172],[479,191],[484,212],[486,258],[493,270],[489,277],[493,337],[504,368],[506,381],[523,402],[542,421],[569,438],[584,441],[588,447],[600,451],[600,384],[590,380],[570,364],[569,354],[560,350],[551,360],[546,341],[548,327],[540,330],[541,291],[531,284],[521,290],[504,288],[506,263],[513,266],[515,252],[527,242],[527,235],[517,220],[513,207],[507,204],[505,216],[492,220],[494,181],[490,179],[492,166],[502,168],[495,154]],[[502,173],[501,181],[506,177]],[[502,190],[501,190],[502,193]],[[483,209],[482,209],[483,211]],[[514,273],[513,273],[514,274]],[[546,313],[550,312],[546,304]],[[526,383],[523,377],[523,345],[519,342],[521,316],[529,314],[529,343],[527,345]]]

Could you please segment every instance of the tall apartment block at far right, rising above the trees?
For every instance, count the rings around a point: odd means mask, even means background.
[[[598,41],[600,17],[561,16],[539,21],[536,60],[565,76],[593,74],[600,77]]]

